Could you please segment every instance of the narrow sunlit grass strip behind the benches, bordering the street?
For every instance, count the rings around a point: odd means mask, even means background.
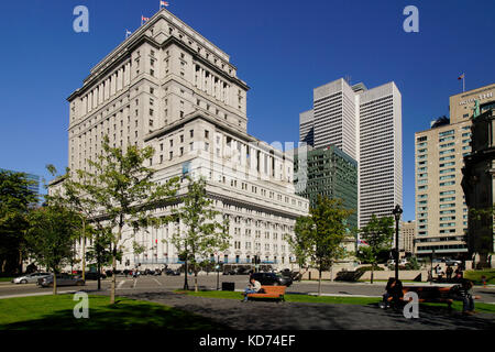
[[[195,292],[184,292],[177,290],[177,293],[184,293],[185,295],[196,296],[196,297],[209,297],[209,298],[227,298],[227,299],[238,299],[242,298],[241,293],[239,292],[228,292],[228,290],[200,290],[198,293]],[[343,304],[343,305],[374,305],[380,302],[381,298],[373,297],[336,297],[336,296],[310,296],[310,295],[295,295],[288,294],[285,295],[286,301],[292,302],[307,302],[307,304]],[[430,306],[430,307],[447,307],[444,304],[420,304],[421,306]],[[454,301],[452,305],[453,310],[462,311],[462,301]],[[480,312],[490,312],[495,314],[495,305],[475,302],[476,311]]]

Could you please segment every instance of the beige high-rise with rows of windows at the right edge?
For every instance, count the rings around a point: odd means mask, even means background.
[[[431,122],[415,133],[416,240],[418,256],[463,257],[468,207],[461,187],[463,157],[471,152],[471,116],[474,101],[495,95],[490,85],[450,97],[450,120]]]

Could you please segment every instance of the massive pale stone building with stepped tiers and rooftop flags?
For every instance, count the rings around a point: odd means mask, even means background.
[[[156,182],[188,174],[207,180],[215,209],[230,219],[231,246],[224,263],[288,267],[294,254],[285,235],[309,201],[295,195],[293,158],[248,133],[249,87],[229,55],[163,9],[91,70],[69,101],[68,164],[90,170],[105,135],[111,146],[151,145]],[[184,191],[187,187],[183,182]],[[169,215],[172,205],[156,209]],[[123,248],[123,261],[177,264],[170,238],[184,224],[136,234],[142,254]],[[125,230],[131,238],[132,229]],[[132,241],[128,241],[132,243]]]

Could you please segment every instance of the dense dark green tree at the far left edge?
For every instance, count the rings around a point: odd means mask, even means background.
[[[38,200],[29,189],[34,184],[24,173],[0,169],[0,273],[22,271],[28,216]]]

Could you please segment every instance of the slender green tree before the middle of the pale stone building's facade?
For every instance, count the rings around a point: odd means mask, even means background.
[[[174,211],[175,218],[186,228],[184,232],[175,232],[172,243],[186,261],[185,288],[187,289],[187,265],[195,274],[195,292],[198,292],[198,272],[209,263],[210,256],[217,251],[229,248],[229,222],[218,221],[220,211],[212,208],[212,200],[207,197],[206,182],[200,178],[189,184],[187,194],[182,197],[182,206]]]

